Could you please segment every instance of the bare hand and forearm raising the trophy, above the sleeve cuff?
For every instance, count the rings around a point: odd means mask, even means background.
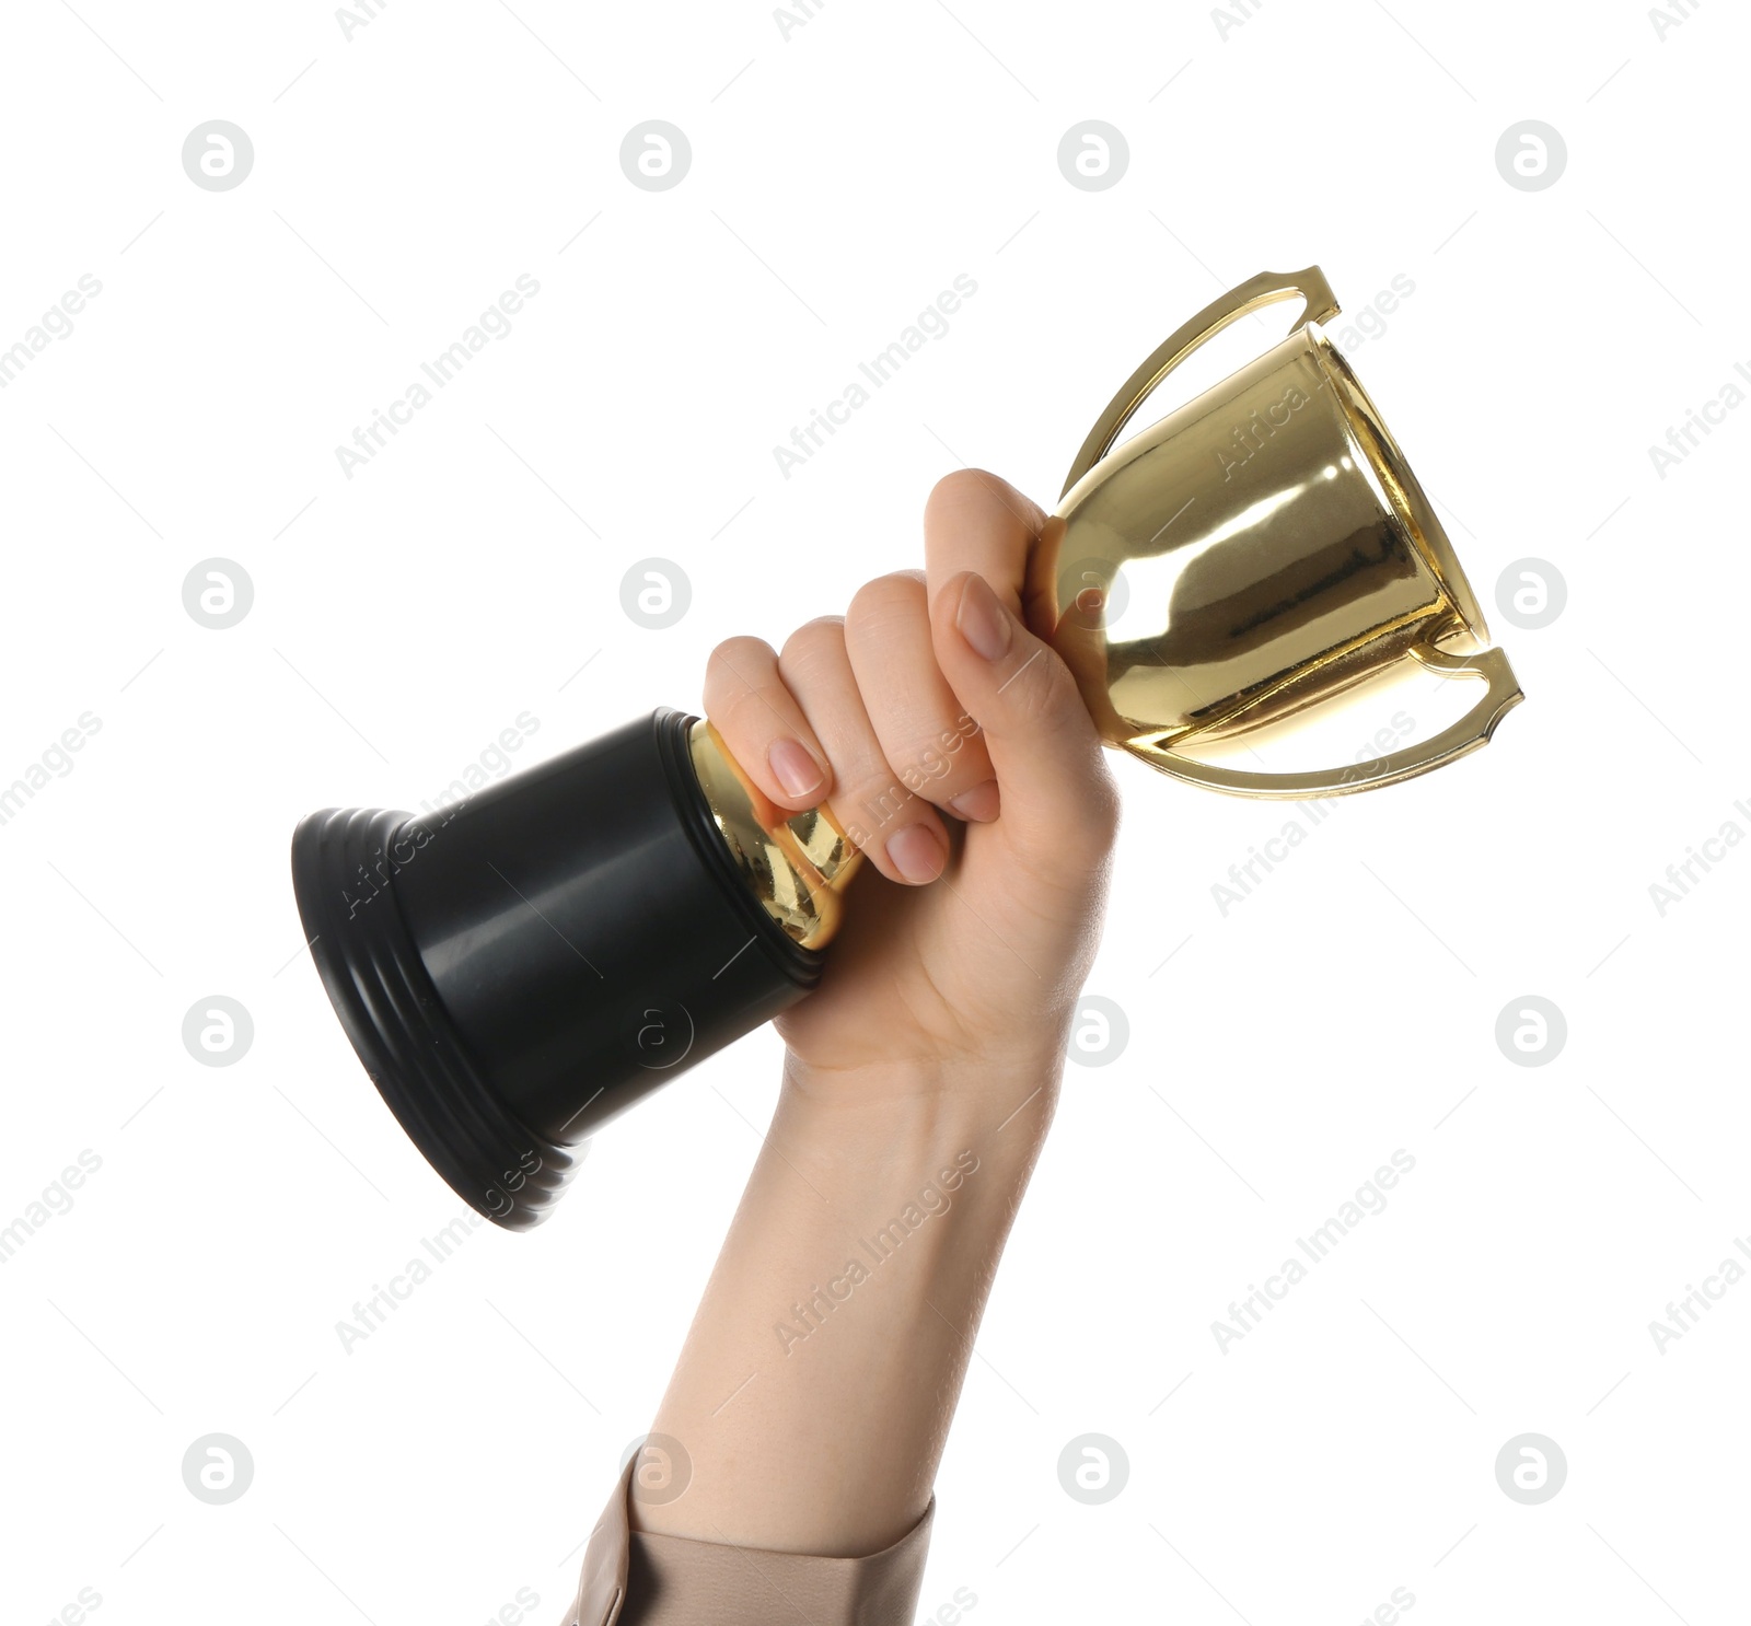
[[[967,469],[930,495],[921,578],[872,581],[783,655],[713,656],[730,753],[777,809],[826,800],[870,873],[781,1019],[777,1111],[657,1412],[686,1493],[646,1502],[634,1479],[641,1531],[860,1556],[930,1502],[1117,824],[1042,642],[1054,546],[1038,508]]]

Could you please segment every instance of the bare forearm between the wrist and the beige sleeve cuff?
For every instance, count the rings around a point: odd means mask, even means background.
[[[860,1556],[930,1502],[1058,1062],[858,1089],[791,1068],[655,1421],[690,1484],[634,1517]]]

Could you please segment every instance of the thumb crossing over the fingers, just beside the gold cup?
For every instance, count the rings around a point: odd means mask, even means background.
[[[1065,870],[1105,851],[1117,788],[1070,669],[975,571],[944,583],[930,614],[937,665],[986,737],[998,824],[1017,858]]]

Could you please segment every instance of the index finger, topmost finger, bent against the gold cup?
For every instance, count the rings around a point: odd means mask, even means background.
[[[1063,525],[1007,480],[956,469],[925,504],[925,562],[932,602],[961,571],[977,571],[1038,635],[1058,618],[1052,572]]]

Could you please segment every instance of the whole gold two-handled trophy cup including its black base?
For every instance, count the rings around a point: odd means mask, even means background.
[[[1199,345],[1304,310],[1261,357],[1115,445]],[[1520,698],[1429,499],[1348,362],[1317,266],[1206,306],[1126,380],[1049,520],[1052,646],[1108,746],[1240,796],[1334,796],[1483,746]],[[1122,600],[1122,602],[1121,602]],[[1322,772],[1199,758],[1404,662],[1481,683],[1420,746]],[[312,957],[371,1082],[452,1188],[545,1218],[609,1118],[802,999],[858,868],[709,721],[658,709],[441,816],[324,809],[292,837]]]

